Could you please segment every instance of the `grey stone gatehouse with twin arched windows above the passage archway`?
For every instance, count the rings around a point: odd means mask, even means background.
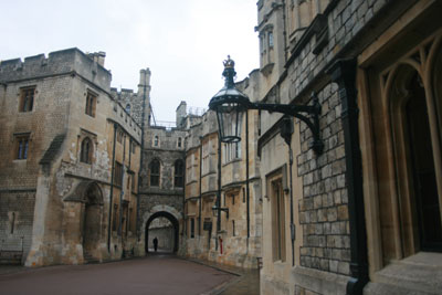
[[[138,186],[136,255],[145,255],[155,238],[149,228],[157,233],[160,229],[173,232],[172,252],[180,249],[182,233],[182,203],[185,178],[185,138],[186,129],[157,126],[152,123],[150,105],[150,71],[140,71],[138,91],[112,88],[113,97],[141,126],[141,155]],[[185,108],[186,110],[186,108]],[[179,116],[177,109],[177,116]],[[186,112],[182,115],[186,116]],[[178,118],[177,118],[178,122]],[[158,219],[169,220],[170,225],[160,226]],[[166,235],[165,235],[166,236]],[[162,242],[162,241],[160,241]]]

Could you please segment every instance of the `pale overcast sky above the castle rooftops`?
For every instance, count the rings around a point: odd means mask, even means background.
[[[112,86],[134,91],[149,67],[157,120],[175,120],[181,101],[207,108],[228,54],[236,81],[259,66],[256,0],[0,0],[0,60],[104,51]]]

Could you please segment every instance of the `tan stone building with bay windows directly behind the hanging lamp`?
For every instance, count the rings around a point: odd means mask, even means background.
[[[249,80],[236,86],[253,93]],[[250,112],[248,119],[244,117],[241,129],[250,145],[245,140],[220,145],[213,112],[190,124],[186,138],[187,256],[246,268],[257,265],[262,238],[257,112]],[[213,207],[224,210],[220,217]]]

